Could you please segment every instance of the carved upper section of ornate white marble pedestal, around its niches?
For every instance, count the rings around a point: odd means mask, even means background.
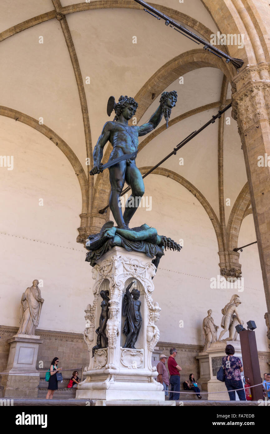
[[[97,366],[102,366],[107,369],[108,367],[119,367],[119,364],[129,369],[137,369],[144,364],[144,358],[146,359],[144,368],[147,369],[148,372],[156,370],[156,368],[152,368],[151,363],[153,349],[159,341],[159,329],[155,325],[155,322],[159,319],[159,312],[161,310],[158,303],[153,304],[151,297],[151,293],[154,289],[152,277],[155,275],[156,267],[150,260],[145,260],[144,257],[134,257],[132,253],[127,256],[126,253],[124,249],[116,248],[115,254],[111,256],[107,254],[107,256],[105,256],[106,259],[99,261],[92,270],[92,277],[96,281],[93,288],[94,302],[93,306],[89,305],[85,310],[87,327],[84,331],[84,339],[89,352],[91,352],[94,346],[94,331],[97,328],[96,315],[98,315],[98,294],[104,286],[105,279],[108,281],[106,289],[110,290],[110,307],[109,319],[106,325],[108,338],[107,360],[104,360],[104,353],[99,355],[96,351],[95,360],[90,356],[88,369],[90,371],[91,369],[98,369]],[[130,278],[135,278],[137,283],[140,284],[140,290],[146,303],[146,309],[144,310],[144,320],[146,321],[146,336],[144,337],[143,343],[144,353],[140,352],[140,350],[125,349],[120,359],[118,358],[119,353],[117,352],[117,346],[120,345],[122,297],[125,292],[125,287],[127,286],[126,282]],[[99,357],[98,361],[96,361],[97,357]]]

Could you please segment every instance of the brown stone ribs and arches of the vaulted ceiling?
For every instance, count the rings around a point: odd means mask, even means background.
[[[235,46],[224,46],[223,49],[233,57],[241,57],[245,62],[249,63],[259,63],[259,62],[269,62],[270,56],[270,41],[266,35],[266,25],[263,21],[261,10],[256,6],[252,0],[220,0],[217,3],[213,0],[204,0],[202,3],[207,8],[210,16],[215,22],[218,29],[223,33],[244,33],[247,36],[245,40],[244,48],[239,50]],[[191,27],[195,32],[202,35],[205,39],[210,40],[211,33],[213,33],[207,26],[198,20],[194,19],[192,16],[181,13],[178,10],[165,7],[159,4],[151,3],[154,7],[161,10],[163,13],[171,16],[174,20],[178,20],[186,26]],[[3,42],[7,38],[14,36],[24,30],[27,30],[33,26],[38,26],[41,23],[46,23],[46,21],[57,19],[61,24],[63,37],[65,38],[67,50],[70,56],[70,61],[72,63],[75,82],[77,85],[78,96],[81,104],[81,116],[83,119],[84,133],[85,133],[85,152],[86,157],[90,159],[90,165],[93,164],[92,152],[92,138],[91,138],[91,128],[88,115],[88,104],[85,93],[85,85],[83,81],[83,76],[80,69],[80,59],[77,56],[75,45],[72,39],[72,33],[68,26],[68,21],[66,16],[75,13],[83,13],[84,11],[90,10],[106,10],[106,9],[127,9],[130,10],[141,10],[137,3],[133,0],[100,0],[91,1],[90,3],[82,2],[73,5],[68,5],[62,7],[60,0],[52,0],[52,5],[54,10],[50,10],[42,15],[29,17],[28,20],[18,23],[15,26],[10,27],[0,33],[0,42]],[[243,8],[243,5],[246,7]],[[269,9],[268,9],[269,11]],[[270,13],[267,11],[265,14],[267,16]],[[143,14],[143,11],[141,12]],[[224,20],[224,16],[226,19]],[[151,25],[153,21],[151,21]],[[255,26],[256,24],[256,26]],[[256,27],[256,29],[255,29]],[[157,32],[158,30],[156,30]],[[179,35],[175,35],[176,39],[181,38]],[[185,38],[184,38],[185,39]],[[181,40],[182,39],[177,39]],[[177,51],[176,51],[177,53]],[[159,69],[150,76],[150,78],[141,83],[140,89],[135,95],[139,107],[137,110],[137,122],[140,121],[147,109],[150,108],[153,102],[157,102],[156,98],[161,92],[164,91],[169,85],[171,85],[179,76],[185,76],[189,72],[201,68],[217,68],[221,70],[224,74],[223,82],[220,88],[220,98],[219,100],[214,100],[206,105],[194,106],[192,110],[186,111],[172,118],[169,122],[169,127],[177,125],[187,118],[192,118],[193,115],[205,112],[213,108],[223,108],[224,105],[228,104],[230,99],[228,99],[228,85],[231,83],[235,70],[231,64],[226,64],[224,60],[205,52],[201,47],[200,49],[187,49],[185,52],[176,55],[168,62],[165,62]],[[154,95],[154,98],[153,98]],[[108,95],[109,96],[109,95]],[[29,125],[31,128],[35,128],[37,131],[41,132],[43,135],[48,137],[51,141],[55,143],[61,149],[61,151],[68,158],[68,161],[72,164],[75,170],[75,174],[78,177],[78,181],[81,187],[82,193],[82,210],[81,210],[81,227],[79,228],[80,236],[78,241],[83,242],[85,236],[95,230],[104,223],[108,217],[106,214],[98,214],[98,210],[105,207],[108,201],[108,195],[110,191],[110,184],[108,178],[108,171],[104,171],[96,177],[95,182],[93,177],[87,178],[85,175],[85,170],[76,156],[76,150],[72,149],[66,141],[64,141],[58,134],[52,131],[49,126],[39,125],[39,122],[16,110],[16,107],[10,109],[8,107],[0,107],[0,115],[7,116],[16,119],[19,122],[23,122]],[[143,141],[140,142],[139,151],[147,147],[147,145],[154,139],[165,131],[165,126],[161,125],[150,135],[148,135]],[[169,134],[169,130],[168,130]],[[110,155],[111,148],[107,147],[104,154],[103,161],[107,161]],[[232,250],[237,246],[238,234],[243,218],[250,214],[250,199],[247,184],[243,187],[242,191],[239,193],[237,200],[231,210],[231,215],[229,217],[228,224],[225,223],[224,214],[224,115],[218,121],[218,201],[219,201],[219,217],[211,207],[207,198],[200,192],[199,188],[193,185],[190,181],[177,174],[174,171],[169,171],[166,168],[158,168],[153,173],[159,174],[161,176],[169,176],[179,184],[187,188],[191,193],[198,199],[202,204],[205,211],[208,213],[209,218],[215,229],[215,233],[218,240],[219,252],[222,254],[226,251]],[[145,173],[151,165],[141,168],[142,173]],[[221,261],[222,262],[222,261]],[[229,261],[230,262],[230,261]],[[226,264],[226,266],[230,266]],[[240,266],[241,267],[241,266]]]

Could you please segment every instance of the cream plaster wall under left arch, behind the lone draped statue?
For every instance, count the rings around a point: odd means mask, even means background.
[[[42,279],[39,328],[82,332],[91,270],[76,243],[81,190],[75,172],[48,138],[3,116],[0,154],[14,157],[12,171],[0,168],[0,324],[19,326],[22,293]]]

